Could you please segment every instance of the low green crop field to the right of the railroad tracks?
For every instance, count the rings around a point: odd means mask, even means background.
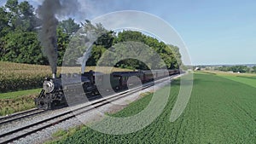
[[[183,115],[171,123],[178,91],[179,83],[174,81],[165,111],[143,130],[129,135],[106,135],[90,128],[61,130],[55,135],[58,141],[49,143],[256,143],[255,88],[217,75],[196,73],[189,104]],[[140,112],[151,97],[131,103],[114,116]]]

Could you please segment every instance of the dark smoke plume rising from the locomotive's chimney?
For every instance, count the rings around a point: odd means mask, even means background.
[[[58,17],[66,17],[77,11],[77,0],[44,0],[38,6],[38,16],[42,20],[42,29],[39,32],[39,41],[43,47],[44,55],[48,57],[53,73],[57,72],[57,32]]]

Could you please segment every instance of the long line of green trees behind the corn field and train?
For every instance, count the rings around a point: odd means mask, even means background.
[[[38,41],[40,26],[41,22],[36,15],[36,9],[30,3],[8,0],[0,8],[0,60],[49,65]],[[71,18],[61,20],[57,26],[58,66],[62,65],[68,44],[74,39],[75,32],[86,26],[104,32],[93,43],[91,56],[87,61],[89,66],[96,66],[104,52],[113,45],[130,41],[144,43],[154,49],[165,61],[167,68],[182,66],[181,55],[176,46],[160,42],[158,39],[146,36],[142,32],[123,31],[114,33],[106,30],[101,24],[92,25],[90,20],[84,20],[84,23],[78,24]],[[73,54],[73,56],[77,57],[79,55]],[[70,65],[76,65],[76,62],[76,60],[68,60]],[[148,69],[148,66],[145,66],[141,61],[129,59],[119,61],[115,66]]]

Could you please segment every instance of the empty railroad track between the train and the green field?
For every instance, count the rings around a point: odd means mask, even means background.
[[[143,86],[140,86],[134,89],[125,90],[115,95],[103,97],[100,100],[88,102],[83,107],[75,108],[73,110],[68,110],[67,112],[61,112],[55,115],[54,117],[44,118],[41,121],[38,121],[36,123],[28,124],[16,130],[11,130],[9,132],[3,133],[0,135],[0,144],[19,140],[20,138],[25,137],[26,135],[31,135],[40,130],[49,128],[55,124],[60,124],[61,122],[66,121],[67,119],[74,118],[85,112],[89,112],[97,107],[102,107],[104,105],[107,105],[108,103],[124,98],[125,96],[137,93],[142,89],[148,89],[149,87],[154,86],[154,84],[159,84],[166,80],[167,80],[166,78],[163,78],[158,81],[155,81],[154,83],[144,84]]]

